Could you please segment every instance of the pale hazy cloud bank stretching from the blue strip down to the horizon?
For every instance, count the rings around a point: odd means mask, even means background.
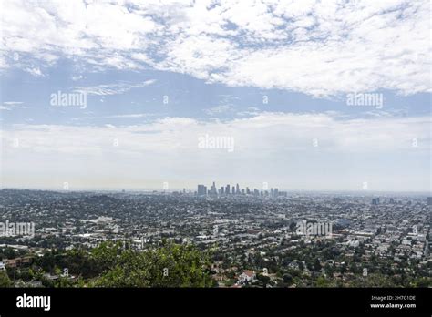
[[[60,186],[70,179],[87,188],[142,189],[151,179],[195,186],[193,179],[240,178],[293,189],[361,189],[367,179],[371,189],[429,190],[431,123],[428,117],[264,112],[226,122],[162,118],[133,126],[14,125],[2,131],[2,176],[5,186],[21,187]],[[198,148],[202,135],[234,138],[234,151]]]

